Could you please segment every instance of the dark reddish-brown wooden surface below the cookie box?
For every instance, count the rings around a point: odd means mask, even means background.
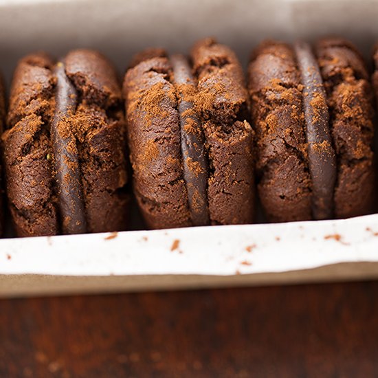
[[[0,301],[0,377],[377,377],[378,282]]]

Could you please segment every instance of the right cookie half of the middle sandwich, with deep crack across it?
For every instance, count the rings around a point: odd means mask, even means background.
[[[248,93],[234,52],[206,38],[191,52],[197,76],[196,109],[209,157],[208,203],[212,224],[254,219],[253,131]]]

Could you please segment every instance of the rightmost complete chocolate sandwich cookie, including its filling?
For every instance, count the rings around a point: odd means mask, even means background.
[[[249,63],[258,192],[270,221],[373,210],[373,107],[351,43],[268,41]]]

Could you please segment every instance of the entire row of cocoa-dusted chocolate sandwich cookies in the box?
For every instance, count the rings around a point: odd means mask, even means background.
[[[6,117],[0,100],[19,236],[125,230],[131,186],[150,228],[253,223],[255,188],[269,221],[373,212],[373,89],[340,38],[264,42],[247,78],[212,38],[188,57],[147,49],[123,87],[98,52],[31,54]]]

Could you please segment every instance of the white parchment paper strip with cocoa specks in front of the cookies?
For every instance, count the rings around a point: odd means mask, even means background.
[[[16,238],[0,243],[0,274],[282,272],[378,262],[378,214],[341,221]]]

